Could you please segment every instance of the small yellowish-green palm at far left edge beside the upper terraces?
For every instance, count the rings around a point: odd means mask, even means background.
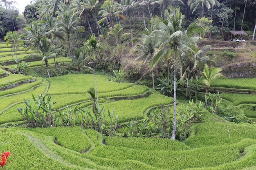
[[[20,35],[18,34],[17,31],[10,31],[6,34],[6,36],[4,37],[4,40],[6,40],[6,47],[11,44],[11,50],[14,51],[15,55],[16,55],[16,60],[18,60],[17,57],[17,51],[20,49]]]

